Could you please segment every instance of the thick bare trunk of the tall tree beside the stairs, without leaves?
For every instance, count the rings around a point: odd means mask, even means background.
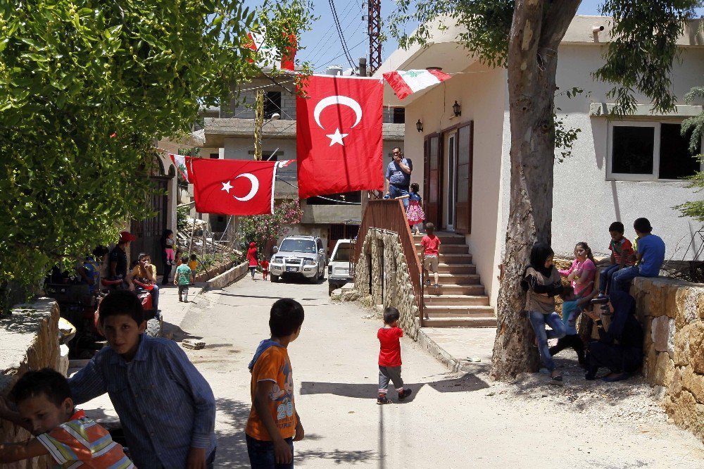
[[[508,46],[511,199],[491,377],[506,380],[538,367],[520,287],[531,246],[551,242],[558,46],[579,0],[517,0]]]

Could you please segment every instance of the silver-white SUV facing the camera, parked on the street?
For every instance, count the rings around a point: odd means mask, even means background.
[[[315,283],[325,278],[325,249],[322,240],[315,236],[287,236],[269,264],[272,282],[279,277],[303,276]]]

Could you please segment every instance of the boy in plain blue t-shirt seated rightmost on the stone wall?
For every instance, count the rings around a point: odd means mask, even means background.
[[[633,222],[633,229],[638,235],[637,265],[617,271],[612,277],[612,289],[629,292],[631,280],[635,277],[657,277],[662,263],[665,262],[665,243],[659,236],[650,232],[648,218],[638,218]]]

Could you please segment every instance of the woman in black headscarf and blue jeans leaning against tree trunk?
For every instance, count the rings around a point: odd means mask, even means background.
[[[530,251],[530,265],[523,271],[521,286],[526,295],[525,310],[538,342],[540,358],[553,381],[562,381],[548,349],[548,339],[565,337],[565,323],[555,313],[555,295],[562,292],[560,273],[553,265],[553,249],[537,242]],[[549,325],[551,330],[546,330]]]

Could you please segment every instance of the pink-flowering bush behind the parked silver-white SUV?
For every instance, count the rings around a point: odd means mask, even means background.
[[[265,249],[269,239],[277,239],[286,235],[291,225],[301,223],[301,205],[298,199],[287,199],[274,207],[270,215],[251,215],[239,218],[237,241],[244,251],[249,248],[249,243],[255,242],[261,252]]]

